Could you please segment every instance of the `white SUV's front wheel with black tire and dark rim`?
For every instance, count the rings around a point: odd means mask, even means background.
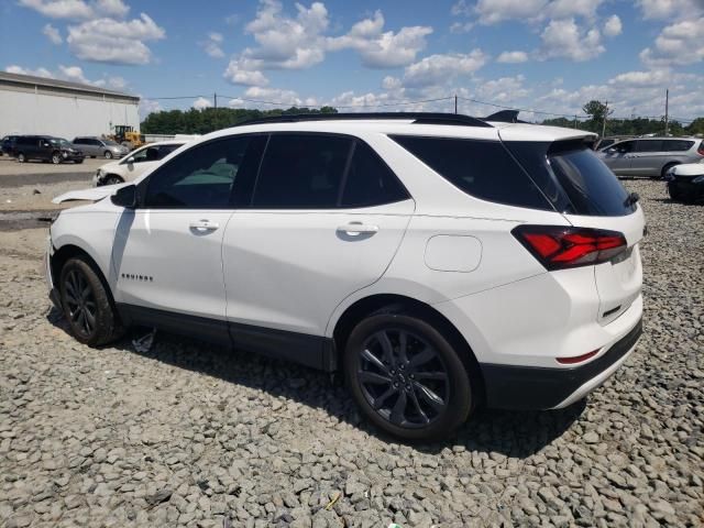
[[[75,256],[62,267],[58,285],[70,332],[89,346],[106,344],[123,333],[110,294],[98,273],[86,257]]]

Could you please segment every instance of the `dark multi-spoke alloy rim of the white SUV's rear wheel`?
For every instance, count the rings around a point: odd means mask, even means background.
[[[380,330],[366,340],[358,380],[370,406],[398,427],[428,426],[450,400],[450,376],[439,352],[404,329]]]

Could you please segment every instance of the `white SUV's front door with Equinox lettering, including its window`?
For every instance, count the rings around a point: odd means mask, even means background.
[[[222,238],[249,146],[248,138],[196,145],[139,184],[140,206],[122,213],[113,250],[117,301],[138,322],[230,342]]]

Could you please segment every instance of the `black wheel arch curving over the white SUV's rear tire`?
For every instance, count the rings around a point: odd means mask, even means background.
[[[377,312],[403,312],[411,315],[424,319],[433,327],[440,329],[441,333],[450,341],[464,363],[475,393],[475,398],[480,403],[484,402],[486,391],[482,369],[466,339],[446,316],[440,314],[432,306],[404,295],[374,294],[356,300],[342,312],[336,321],[332,330],[332,339],[338,354],[338,365],[343,364],[342,354],[344,353],[346,340],[354,327],[364,318]]]

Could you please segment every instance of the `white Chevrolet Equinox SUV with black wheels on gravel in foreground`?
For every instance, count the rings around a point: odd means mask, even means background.
[[[644,215],[593,139],[431,113],[221,130],[59,197],[97,201],[51,227],[52,298],[89,345],[141,324],[341,371],[406,440],[565,407],[641,332]]]

